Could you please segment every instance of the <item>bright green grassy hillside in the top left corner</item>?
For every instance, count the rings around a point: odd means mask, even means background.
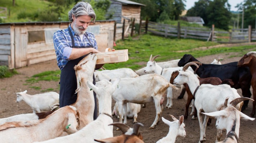
[[[48,8],[48,5],[50,4],[49,1],[45,0],[15,0],[15,6],[13,6],[12,0],[0,0],[0,6],[8,8],[8,18],[3,19],[4,23],[9,22],[25,22],[25,21],[36,21],[32,18],[20,18],[19,17],[26,17],[28,15],[29,17],[33,17],[35,15],[38,15],[39,11],[42,11],[44,9]],[[10,10],[10,16],[9,16],[9,10]]]

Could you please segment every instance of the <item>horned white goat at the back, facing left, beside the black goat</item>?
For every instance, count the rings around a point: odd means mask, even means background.
[[[182,68],[183,67],[162,68],[161,66],[158,65],[158,63],[156,63],[156,61],[148,61],[147,66],[144,68],[144,72],[145,73],[152,72],[152,73],[162,75],[166,80],[170,81],[173,71],[181,70]],[[189,67],[188,70],[194,72],[194,70],[191,67]],[[181,88],[181,90],[185,88],[183,85],[180,85],[179,87]],[[174,88],[174,89],[177,89],[177,88]],[[167,103],[165,106],[168,109],[172,108],[173,106],[172,98],[173,98],[173,88],[169,87],[167,89]]]

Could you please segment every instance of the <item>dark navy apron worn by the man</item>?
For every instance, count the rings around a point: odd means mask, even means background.
[[[68,27],[69,35],[72,40],[72,48],[93,48],[91,41],[89,40],[90,45],[88,46],[75,46],[74,37],[72,35],[71,29]],[[81,39],[82,41],[83,39]],[[64,66],[60,73],[60,107],[64,107],[67,105],[71,105],[76,102],[77,94],[75,94],[77,89],[77,77],[76,71],[74,70],[74,66],[79,63],[84,57],[87,55],[81,56],[80,58],[69,60],[68,63]],[[95,77],[93,74],[93,84],[95,85]],[[97,100],[96,100],[96,93],[93,92],[95,108],[93,113],[93,119],[97,118]],[[84,105],[86,106],[86,105]]]

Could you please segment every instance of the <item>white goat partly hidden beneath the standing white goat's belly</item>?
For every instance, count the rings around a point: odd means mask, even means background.
[[[138,117],[138,113],[140,113],[140,111],[141,111],[141,104],[135,104],[135,103],[130,103],[130,102],[127,103],[127,117],[133,118],[134,119],[133,123],[137,123],[137,117]],[[117,118],[120,118],[117,103],[115,103],[112,115],[116,115]],[[124,119],[124,117],[122,117],[122,118]]]

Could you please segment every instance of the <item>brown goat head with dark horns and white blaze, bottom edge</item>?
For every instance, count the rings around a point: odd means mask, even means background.
[[[141,123],[135,123],[133,128],[130,128],[128,125],[122,123],[113,123],[110,125],[114,125],[122,130],[123,134],[113,137],[113,138],[106,138],[106,139],[94,139],[100,143],[144,143],[143,137],[139,132],[140,126],[143,126]]]

